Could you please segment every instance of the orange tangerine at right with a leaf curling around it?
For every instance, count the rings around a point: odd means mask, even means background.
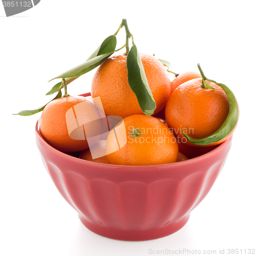
[[[181,128],[195,139],[215,133],[229,113],[228,98],[223,89],[214,82],[206,82],[215,90],[203,88],[202,78],[189,80],[177,87],[165,106],[166,122],[179,140],[185,138]],[[184,142],[199,146],[189,141]],[[221,142],[203,146],[218,145]]]

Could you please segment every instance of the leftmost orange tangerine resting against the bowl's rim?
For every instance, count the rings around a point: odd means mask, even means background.
[[[82,151],[89,147],[86,139],[100,134],[102,125],[96,106],[85,97],[67,96],[50,101],[41,114],[40,131],[44,139],[61,152]]]

